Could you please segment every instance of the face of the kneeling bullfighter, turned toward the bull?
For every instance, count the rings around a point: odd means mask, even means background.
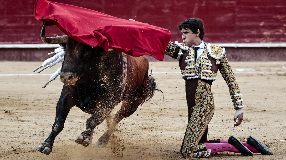
[[[186,46],[192,46],[195,45],[196,42],[198,40],[200,40],[200,38],[198,37],[198,35],[200,34],[200,32],[197,33],[193,33],[192,30],[186,28],[187,30],[185,30],[184,28],[182,28],[181,32],[182,32],[182,39],[183,39],[183,43]]]

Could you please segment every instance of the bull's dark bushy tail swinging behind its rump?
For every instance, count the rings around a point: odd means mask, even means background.
[[[164,100],[164,93],[160,89],[157,89],[155,78],[152,77],[152,74],[150,74],[147,77],[147,83],[145,83],[145,85],[141,85],[141,87],[142,87],[142,93],[143,93],[141,95],[142,96],[141,106],[144,102],[151,100],[155,91],[161,92],[163,94],[163,100]]]

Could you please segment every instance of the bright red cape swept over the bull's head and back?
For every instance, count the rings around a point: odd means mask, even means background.
[[[47,0],[36,1],[34,14],[37,20],[51,22],[78,42],[134,57],[150,55],[162,61],[171,39],[170,31],[164,28]]]

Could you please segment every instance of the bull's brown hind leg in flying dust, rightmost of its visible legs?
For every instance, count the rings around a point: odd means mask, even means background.
[[[116,112],[114,118],[110,123],[108,123],[108,130],[98,139],[96,142],[96,146],[105,147],[110,139],[112,132],[114,131],[118,122],[120,122],[123,118],[129,117],[133,114],[138,108],[140,103],[133,103],[130,101],[123,101],[122,106],[118,112]]]

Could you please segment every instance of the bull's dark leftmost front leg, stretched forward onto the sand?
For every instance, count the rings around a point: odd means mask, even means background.
[[[55,123],[53,124],[51,134],[41,143],[36,149],[46,155],[49,155],[53,150],[53,142],[55,137],[63,130],[65,119],[69,114],[70,109],[77,105],[78,98],[76,95],[75,86],[64,85],[61,91],[61,96],[57,102]]]

